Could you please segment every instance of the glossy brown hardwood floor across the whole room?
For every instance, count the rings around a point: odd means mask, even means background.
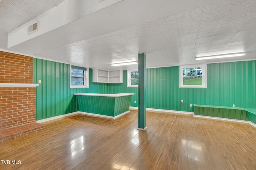
[[[44,125],[0,144],[0,160],[10,160],[0,169],[256,169],[256,128],[248,124],[147,112],[147,129],[138,131],[131,110],[116,120],[75,115]]]

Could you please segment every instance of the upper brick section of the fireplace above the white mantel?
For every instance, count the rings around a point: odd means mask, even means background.
[[[33,57],[0,51],[0,83],[32,83]]]

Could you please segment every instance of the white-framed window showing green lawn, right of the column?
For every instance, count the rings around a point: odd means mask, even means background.
[[[206,87],[206,64],[180,66],[180,88]]]

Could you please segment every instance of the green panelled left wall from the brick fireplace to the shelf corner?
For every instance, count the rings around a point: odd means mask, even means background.
[[[90,69],[89,88],[70,88],[70,65],[34,58],[33,83],[36,87],[36,120],[78,111],[75,93],[104,93],[104,83],[92,83]]]

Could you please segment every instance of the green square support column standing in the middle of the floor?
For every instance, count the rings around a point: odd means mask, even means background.
[[[138,56],[139,65],[139,114],[138,114],[138,130],[146,130],[146,54],[142,53]]]

